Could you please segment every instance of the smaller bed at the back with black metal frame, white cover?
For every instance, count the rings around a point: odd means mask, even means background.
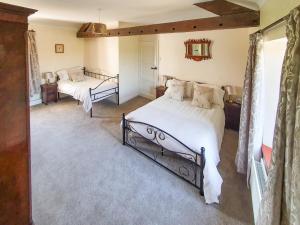
[[[82,68],[84,79],[74,82],[69,79],[58,80],[58,93],[72,96],[78,102],[82,102],[83,109],[90,111],[93,117],[93,103],[99,102],[113,95],[119,105],[119,75],[113,77],[99,73],[93,73]]]

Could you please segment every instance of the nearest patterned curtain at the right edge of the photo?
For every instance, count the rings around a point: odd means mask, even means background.
[[[257,220],[259,225],[300,224],[300,7],[287,21],[287,50],[271,168]]]

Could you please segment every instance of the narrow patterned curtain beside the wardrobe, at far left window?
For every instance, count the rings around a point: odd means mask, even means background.
[[[41,74],[37,53],[35,32],[27,31],[28,39],[28,69],[29,69],[29,94],[33,97],[40,93]]]

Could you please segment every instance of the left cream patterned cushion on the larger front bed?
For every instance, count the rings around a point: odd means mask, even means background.
[[[168,98],[172,98],[177,101],[183,100],[185,81],[176,79],[168,80],[166,86],[168,87],[168,89],[166,90],[165,95]]]

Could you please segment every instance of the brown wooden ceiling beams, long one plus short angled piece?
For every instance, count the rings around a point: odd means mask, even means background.
[[[145,34],[179,33],[205,30],[222,30],[244,27],[257,27],[260,23],[260,13],[225,0],[213,0],[197,3],[196,6],[213,12],[219,16],[185,20],[171,23],[151,24],[145,26],[111,29],[100,37],[133,36]],[[99,37],[99,35],[78,32],[79,38]]]

